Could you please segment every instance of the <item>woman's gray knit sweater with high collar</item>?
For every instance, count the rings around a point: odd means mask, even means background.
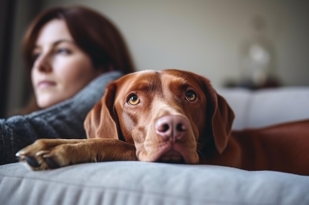
[[[85,138],[87,113],[106,85],[120,76],[120,72],[102,74],[69,100],[29,115],[0,119],[0,164],[16,162],[15,153],[39,138]]]

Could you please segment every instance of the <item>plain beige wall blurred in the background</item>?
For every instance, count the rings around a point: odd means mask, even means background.
[[[253,34],[252,17],[260,15],[284,85],[309,85],[305,0],[43,1],[44,8],[59,4],[83,4],[106,14],[124,34],[139,70],[192,70],[215,86],[240,78],[240,45]]]

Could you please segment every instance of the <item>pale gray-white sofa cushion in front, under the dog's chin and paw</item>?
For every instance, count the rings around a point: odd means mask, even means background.
[[[1,205],[308,205],[309,177],[211,165],[101,162],[0,167]]]

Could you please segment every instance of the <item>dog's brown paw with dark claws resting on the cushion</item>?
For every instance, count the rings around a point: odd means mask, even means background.
[[[70,146],[72,144],[60,139],[39,139],[18,151],[16,156],[32,170],[56,169],[71,163]]]

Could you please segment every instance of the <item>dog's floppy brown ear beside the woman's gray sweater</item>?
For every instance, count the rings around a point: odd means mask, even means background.
[[[85,121],[84,128],[87,138],[118,139],[117,115],[114,111],[116,83],[107,86],[101,100],[91,109]]]

